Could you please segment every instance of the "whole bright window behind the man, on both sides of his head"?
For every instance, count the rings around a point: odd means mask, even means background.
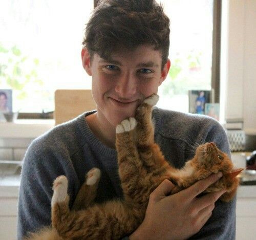
[[[13,111],[54,110],[56,89],[90,89],[81,66],[83,30],[94,1],[10,0],[0,8],[0,89]],[[172,66],[159,107],[188,112],[188,90],[210,90],[214,0],[158,0],[170,17]]]

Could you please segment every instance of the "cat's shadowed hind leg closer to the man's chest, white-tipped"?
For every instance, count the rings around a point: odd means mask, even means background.
[[[100,170],[96,167],[86,174],[86,180],[76,195],[72,210],[86,209],[93,203],[97,194],[99,179]]]

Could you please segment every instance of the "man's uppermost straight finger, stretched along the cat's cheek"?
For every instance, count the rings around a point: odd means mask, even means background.
[[[199,180],[192,186],[188,187],[184,190],[184,193],[189,196],[189,199],[194,199],[202,193],[207,187],[209,187],[211,184],[215,183],[222,177],[222,173],[219,172],[217,174],[211,174],[209,177]]]

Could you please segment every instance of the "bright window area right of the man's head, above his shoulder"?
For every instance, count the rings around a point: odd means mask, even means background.
[[[211,90],[213,0],[160,0],[170,18],[167,79],[158,106],[188,112],[188,90]]]

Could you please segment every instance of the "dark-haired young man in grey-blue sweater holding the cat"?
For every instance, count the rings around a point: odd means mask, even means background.
[[[92,167],[101,169],[96,202],[122,198],[115,150],[116,125],[134,116],[144,98],[157,93],[170,68],[169,19],[150,0],[105,0],[94,11],[83,41],[82,65],[92,76],[97,110],[56,126],[37,138],[24,159],[18,204],[18,238],[51,224],[52,183],[69,180],[71,205]],[[214,141],[229,152],[223,128],[204,116],[153,111],[155,139],[164,156],[182,167],[197,143]],[[145,219],[130,239],[234,239],[236,202],[224,193],[197,195],[217,174],[168,196],[163,181],[151,194]]]

